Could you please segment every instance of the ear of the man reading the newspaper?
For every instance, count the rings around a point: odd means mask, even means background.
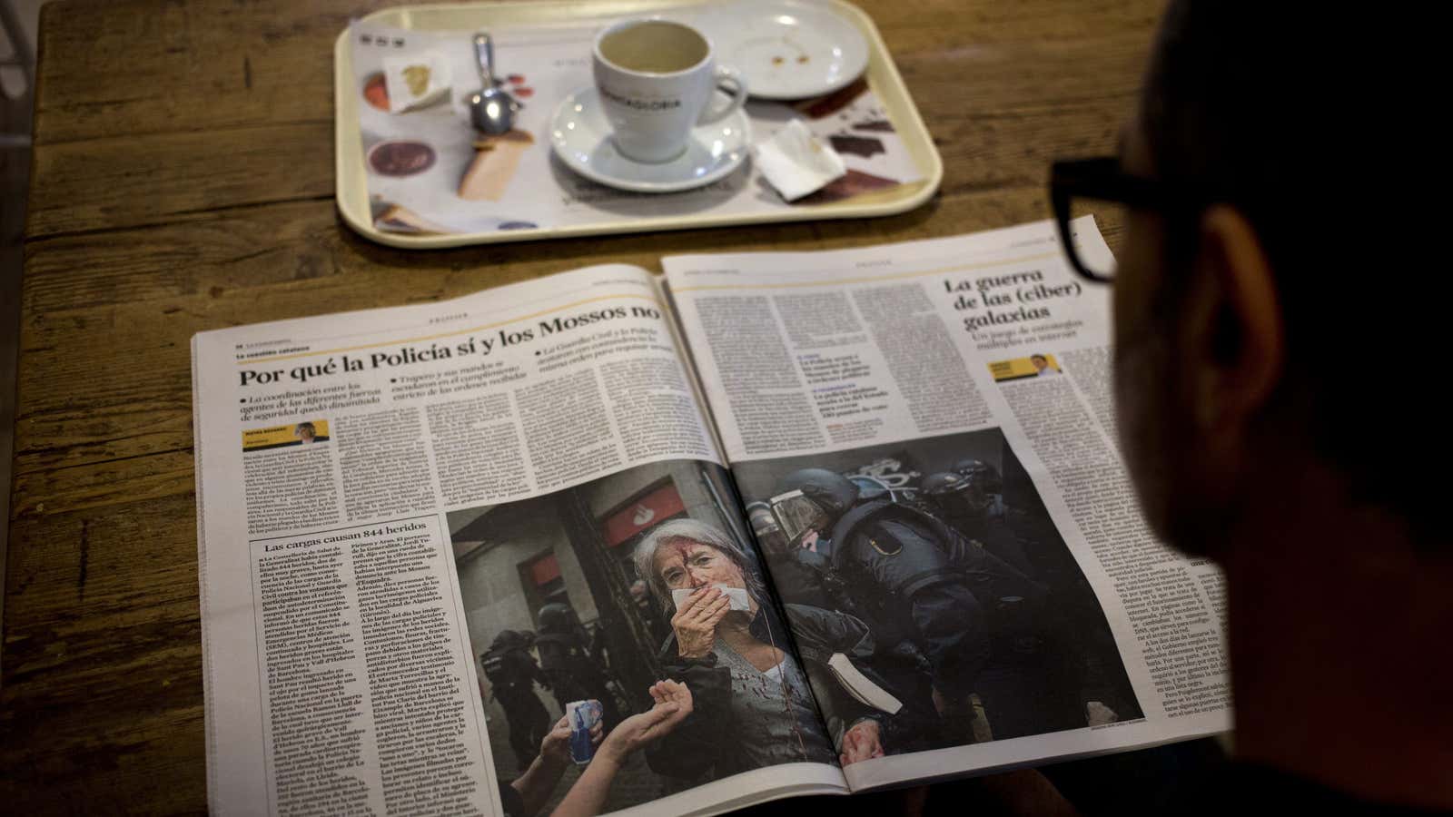
[[[1180,327],[1187,397],[1200,432],[1244,427],[1282,379],[1286,326],[1271,262],[1238,209],[1200,218],[1196,282]]]

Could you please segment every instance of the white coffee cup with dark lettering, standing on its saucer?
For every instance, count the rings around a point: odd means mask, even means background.
[[[622,20],[596,35],[593,57],[616,150],[636,161],[671,161],[686,151],[692,128],[747,102],[747,83],[718,65],[712,42],[684,23]],[[729,89],[729,102],[715,103],[718,86]]]

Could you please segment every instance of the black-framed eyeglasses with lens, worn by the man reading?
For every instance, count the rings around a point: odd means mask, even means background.
[[[1100,233],[1113,246],[1125,230],[1130,208],[1178,209],[1186,204],[1171,196],[1159,182],[1120,170],[1120,160],[1113,156],[1053,163],[1049,170],[1049,201],[1055,208],[1059,243],[1069,256],[1069,266],[1100,283],[1114,281],[1114,257],[1093,253],[1087,259],[1075,240],[1075,218],[1093,214]]]

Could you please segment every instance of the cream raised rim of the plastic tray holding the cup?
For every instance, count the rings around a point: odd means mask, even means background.
[[[918,116],[908,89],[904,87],[898,68],[894,67],[888,47],[878,26],[857,6],[843,0],[819,0],[862,31],[867,41],[869,61],[866,80],[870,90],[894,122],[908,154],[917,164],[923,179],[899,185],[876,193],[865,193],[846,201],[821,205],[801,205],[772,212],[713,214],[711,211],[689,215],[616,218],[594,224],[572,224],[564,227],[539,227],[532,230],[494,230],[488,233],[408,234],[389,233],[373,227],[369,211],[368,179],[363,167],[362,135],[359,132],[359,93],[355,89],[353,54],[349,32],[344,29],[333,47],[333,96],[334,96],[334,156],[337,161],[337,199],[343,220],[357,233],[394,247],[434,249],[466,244],[491,244],[503,241],[530,241],[539,238],[564,238],[570,236],[599,236],[606,233],[654,233],[661,230],[686,230],[695,227],[724,227],[737,224],[763,224],[776,221],[815,221],[825,218],[866,218],[894,215],[912,209],[928,201],[943,180],[943,160],[939,157],[933,138]],[[488,28],[549,26],[559,23],[590,25],[593,20],[665,13],[679,9],[703,7],[703,0],[620,0],[584,6],[570,1],[548,3],[465,3],[400,6],[373,12],[363,22],[414,31],[475,31]]]

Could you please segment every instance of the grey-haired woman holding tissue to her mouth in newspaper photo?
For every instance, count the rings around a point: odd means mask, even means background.
[[[786,650],[786,629],[753,563],[731,536],[677,519],[651,531],[632,560],[671,613],[674,634],[661,661],[692,696],[692,714],[647,750],[651,769],[716,779],[777,763],[851,763],[883,754],[882,714],[819,683],[818,699],[833,708],[827,715],[834,731],[822,734],[808,679]],[[741,590],[747,609],[732,609],[734,595],[742,606]],[[673,592],[680,603],[673,602]],[[815,679],[833,677],[825,661],[834,653],[872,653],[867,627],[850,615],[789,605],[788,616]]]

